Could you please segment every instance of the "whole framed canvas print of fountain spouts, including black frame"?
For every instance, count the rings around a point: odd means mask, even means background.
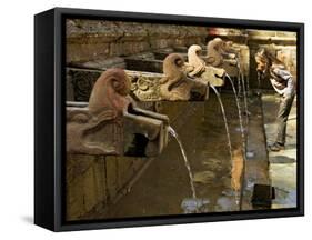
[[[34,17],[34,223],[303,216],[304,26]]]

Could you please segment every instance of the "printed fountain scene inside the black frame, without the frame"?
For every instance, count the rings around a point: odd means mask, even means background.
[[[296,207],[296,33],[66,20],[67,221]]]

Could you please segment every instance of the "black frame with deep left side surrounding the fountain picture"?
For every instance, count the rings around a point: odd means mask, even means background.
[[[137,22],[218,26],[298,33],[298,207],[270,211],[133,218],[67,222],[62,202],[64,159],[64,20],[105,19]],[[54,8],[34,17],[34,223],[52,231],[71,231],[191,222],[296,217],[304,214],[304,24],[207,17]]]

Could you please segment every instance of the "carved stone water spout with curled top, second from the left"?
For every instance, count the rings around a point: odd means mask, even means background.
[[[178,53],[167,56],[163,61],[163,78],[160,79],[159,92],[162,100],[188,101],[192,91],[207,96],[207,84],[185,74],[183,57]]]

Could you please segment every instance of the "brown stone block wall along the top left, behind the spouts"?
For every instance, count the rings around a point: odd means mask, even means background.
[[[67,63],[204,43],[205,37],[203,27],[72,19],[67,21]]]

